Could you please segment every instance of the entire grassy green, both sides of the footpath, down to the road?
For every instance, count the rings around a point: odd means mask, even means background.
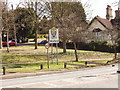
[[[6,52],[6,48],[2,50],[2,64],[5,67],[14,67],[7,69],[7,72],[40,72],[46,70],[63,70],[64,63],[74,63],[74,64],[85,64],[85,61],[82,59],[103,59],[98,60],[97,62],[106,63],[108,60],[104,58],[113,58],[113,53],[105,53],[98,51],[84,51],[78,50],[79,62],[75,62],[74,50],[67,49],[67,53],[63,54],[62,49],[58,49],[58,60],[59,65],[56,64],[56,48],[53,48],[53,54],[51,54],[51,48],[49,48],[49,60],[50,60],[50,69],[47,68],[47,51],[44,46],[38,46],[38,49],[35,50],[34,46],[19,46],[19,47],[10,47],[10,53]],[[69,60],[69,61],[63,61]],[[52,63],[53,62],[53,63]],[[12,65],[17,63],[17,65]],[[40,65],[43,64],[44,69],[40,70]],[[67,66],[77,67],[77,66]],[[2,70],[0,70],[2,72]]]

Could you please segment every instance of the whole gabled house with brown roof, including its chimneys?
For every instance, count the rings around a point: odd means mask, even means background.
[[[106,19],[96,16],[87,26],[87,31],[91,34],[91,38],[93,40],[105,40],[111,41],[111,36],[109,32],[115,30],[115,27],[120,30],[120,10],[116,10],[116,16],[114,19],[112,16],[112,8],[111,6],[107,5],[106,8]],[[90,38],[90,39],[91,39]]]

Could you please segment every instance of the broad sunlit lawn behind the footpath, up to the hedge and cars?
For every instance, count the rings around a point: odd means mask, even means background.
[[[67,53],[62,53],[62,49],[58,49],[58,58],[61,60],[75,60],[74,50],[67,49]],[[79,60],[82,59],[101,59],[101,58],[113,58],[113,53],[105,53],[98,51],[84,51],[78,50]],[[50,61],[56,61],[56,49],[53,48],[51,54],[51,48],[49,48]],[[28,63],[28,62],[46,62],[47,61],[47,50],[44,46],[38,46],[35,50],[34,46],[20,46],[10,47],[10,53],[6,52],[6,48],[2,51],[2,62],[3,63]]]

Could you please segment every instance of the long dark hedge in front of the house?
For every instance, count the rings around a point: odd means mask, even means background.
[[[62,42],[59,43],[59,47],[63,48],[62,45]],[[67,49],[74,49],[73,42],[69,42],[66,45]],[[90,43],[78,42],[77,49],[114,53],[114,46],[108,44],[106,41],[91,41]],[[116,50],[120,52],[120,45],[116,47]]]

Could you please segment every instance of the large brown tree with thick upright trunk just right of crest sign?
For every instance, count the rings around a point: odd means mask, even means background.
[[[51,15],[54,26],[60,29],[60,39],[63,41],[63,53],[66,53],[66,42],[69,40],[68,33],[72,32],[72,29],[68,28],[72,25],[68,17],[73,14],[76,17],[71,18],[71,21],[74,21],[77,17],[80,17],[78,18],[79,22],[85,19],[84,9],[80,2],[51,2]]]

